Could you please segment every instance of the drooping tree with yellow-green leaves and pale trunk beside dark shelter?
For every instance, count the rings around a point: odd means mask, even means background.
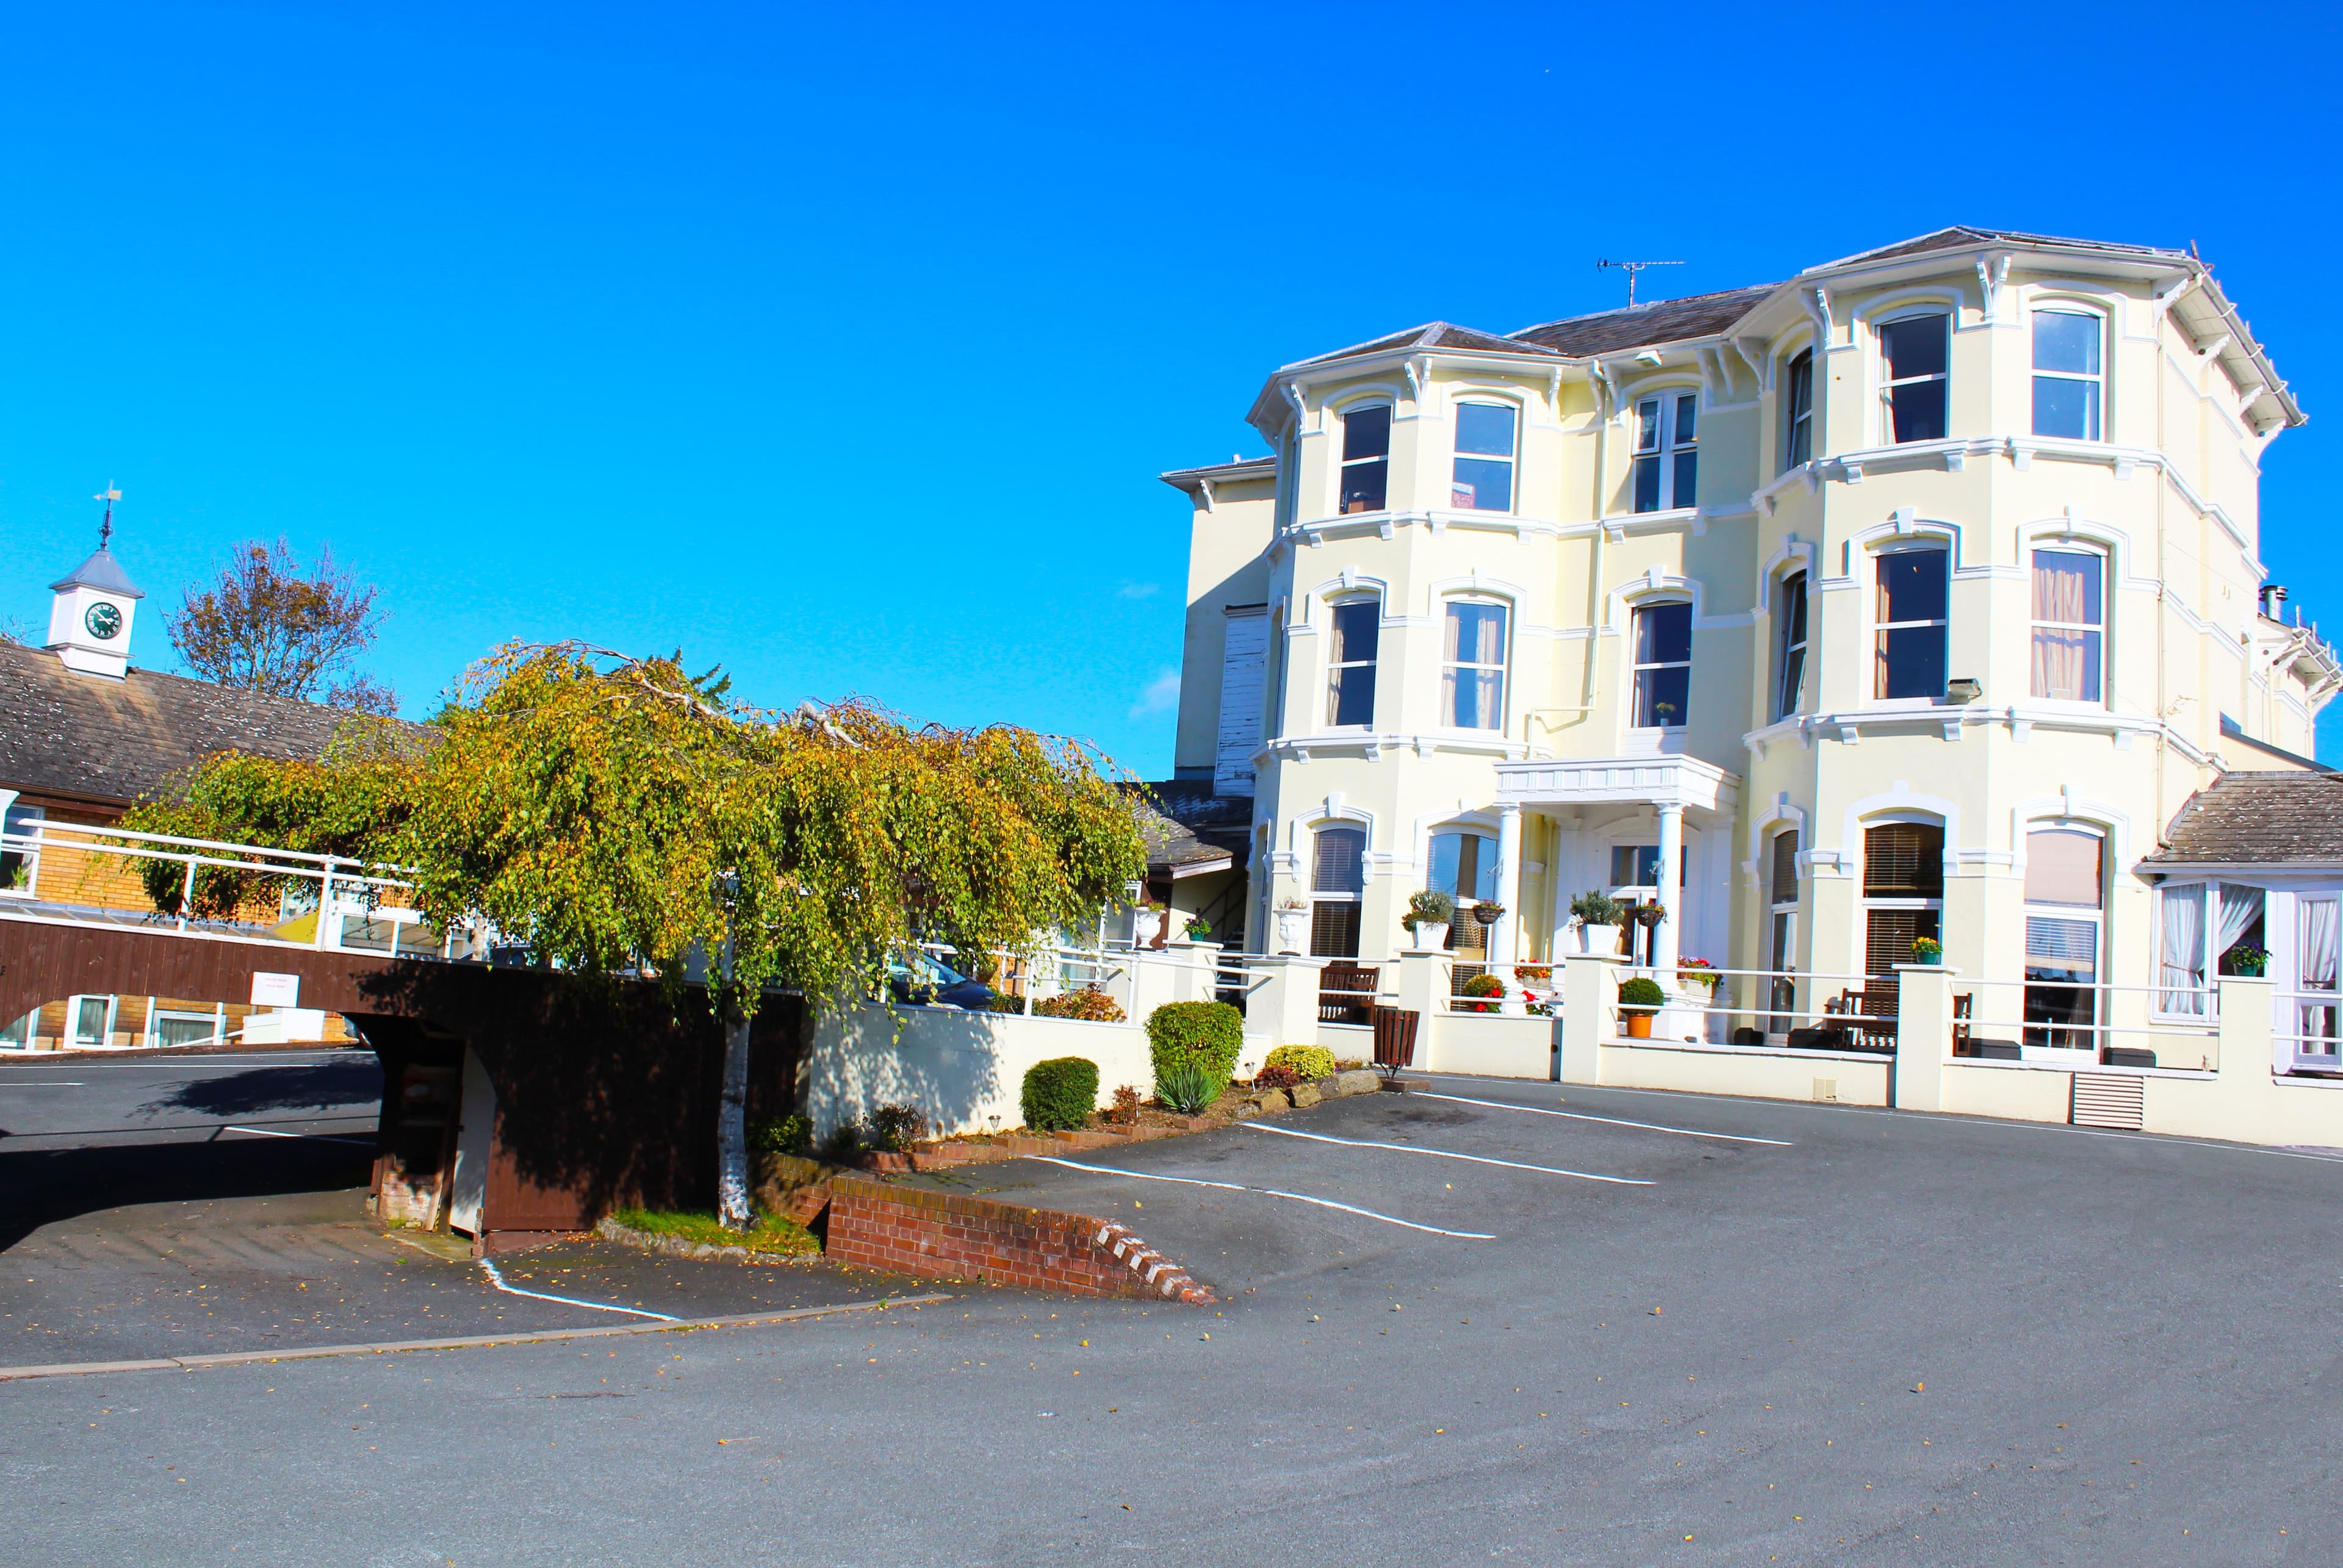
[[[736,1228],[747,1022],[769,987],[822,1013],[883,994],[911,942],[1022,952],[1146,865],[1132,804],[1071,741],[911,727],[869,703],[759,710],[679,654],[576,642],[497,652],[422,731],[354,729],[316,762],[213,757],[127,825],[401,865],[431,921],[485,919],[567,970],[672,982],[705,956]],[[206,872],[192,912],[255,891]],[[173,877],[150,893],[178,912]]]

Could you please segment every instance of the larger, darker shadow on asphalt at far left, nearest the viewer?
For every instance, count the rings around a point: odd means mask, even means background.
[[[131,1144],[0,1153],[0,1252],[40,1226],[134,1202],[204,1202],[366,1186],[373,1155],[323,1139]]]

